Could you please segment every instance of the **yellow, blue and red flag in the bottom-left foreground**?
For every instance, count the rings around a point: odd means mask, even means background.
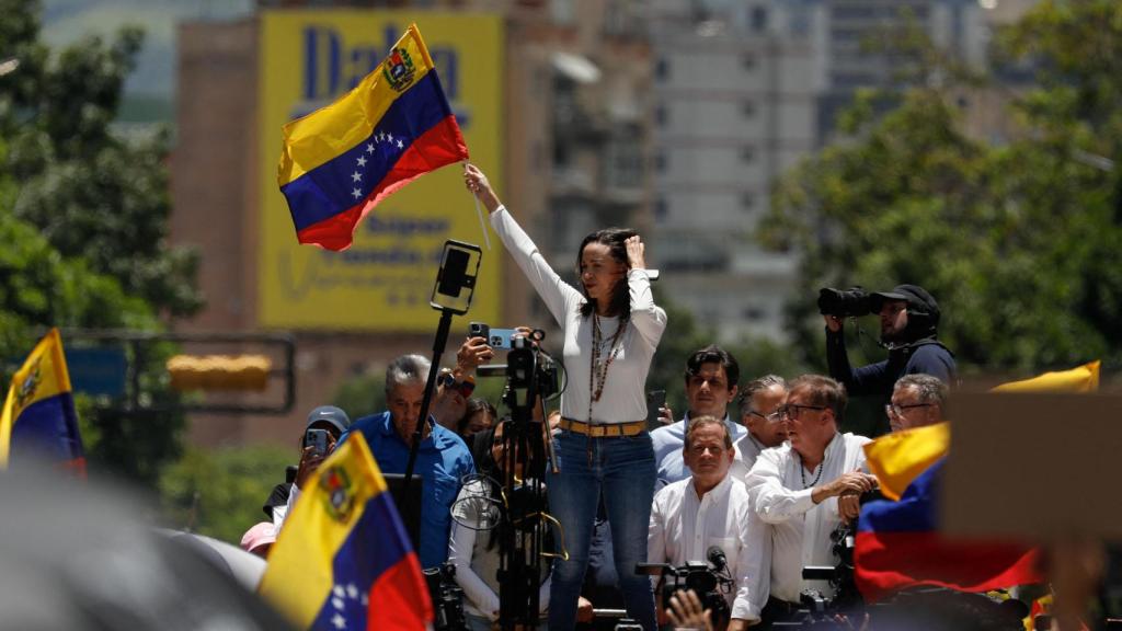
[[[285,520],[259,592],[301,629],[425,629],[421,564],[362,436],[340,445],[314,482]]]

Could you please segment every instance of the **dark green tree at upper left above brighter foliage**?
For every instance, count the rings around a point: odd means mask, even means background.
[[[125,27],[112,42],[89,37],[52,54],[39,11],[37,0],[0,0],[0,51],[20,61],[0,79],[7,168],[20,182],[11,210],[158,312],[197,312],[197,256],[167,241],[168,132],[126,139],[112,127],[142,31]]]

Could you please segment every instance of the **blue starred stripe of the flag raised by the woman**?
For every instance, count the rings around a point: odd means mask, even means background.
[[[410,145],[452,115],[435,71],[397,97],[365,140],[280,186],[296,231],[344,212],[374,191]]]

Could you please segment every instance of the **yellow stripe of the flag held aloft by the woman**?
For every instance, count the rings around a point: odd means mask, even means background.
[[[397,95],[433,67],[429,48],[415,24],[410,25],[394,45],[394,51],[397,49],[403,49],[414,65],[407,83],[397,88],[389,84],[384,75],[389,65],[387,58],[335,102],[284,126],[284,148],[277,165],[278,185],[284,186],[365,140]]]

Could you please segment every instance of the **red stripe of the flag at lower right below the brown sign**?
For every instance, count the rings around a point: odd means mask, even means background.
[[[951,542],[937,532],[858,532],[857,589],[868,602],[912,585],[985,592],[1039,583],[1037,550],[1002,542]]]

